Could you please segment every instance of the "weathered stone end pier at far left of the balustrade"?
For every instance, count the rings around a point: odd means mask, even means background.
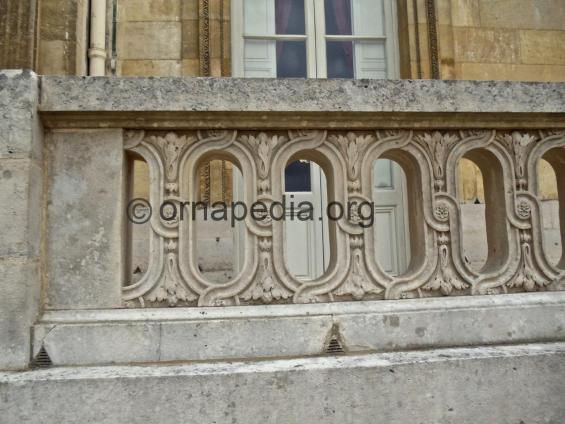
[[[42,131],[38,77],[0,71],[0,369],[30,360],[41,293]]]

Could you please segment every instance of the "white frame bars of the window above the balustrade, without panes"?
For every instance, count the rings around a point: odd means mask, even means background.
[[[232,0],[231,36],[232,36],[232,76],[243,78],[244,46],[246,39],[261,40],[306,40],[306,76],[307,78],[327,78],[326,41],[347,40],[385,40],[387,78],[400,77],[400,55],[398,44],[398,21],[394,0],[383,0],[384,36],[368,37],[356,35],[326,35],[324,0],[304,0],[305,28],[304,36],[296,35],[249,35],[243,32],[243,1]]]

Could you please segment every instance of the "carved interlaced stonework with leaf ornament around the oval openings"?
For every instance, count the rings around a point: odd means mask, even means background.
[[[126,281],[124,286],[124,300],[130,306],[471,295],[545,290],[556,288],[565,278],[565,270],[549,264],[541,247],[542,218],[535,200],[539,198],[535,184],[529,183],[529,174],[537,169],[544,151],[549,147],[565,148],[563,131],[129,131],[124,139],[125,149],[141,155],[151,168],[150,200],[154,207],[164,200],[178,201],[186,195],[191,184],[188,176],[194,175],[191,167],[197,166],[204,156],[209,158],[214,152],[224,151],[239,162],[245,187],[254,187],[252,193],[245,194],[246,201],[276,200],[273,193],[283,187],[279,179],[284,174],[284,162],[299,156],[301,151],[329,164],[337,184],[328,197],[344,204],[370,201],[374,161],[388,150],[401,151],[412,158],[411,167],[419,168],[407,173],[419,176],[407,184],[411,198],[422,202],[422,212],[411,220],[411,225],[424,228],[419,237],[411,240],[416,265],[395,276],[384,272],[375,259],[370,241],[376,237],[378,243],[379,239],[372,227],[359,227],[358,216],[329,222],[335,233],[331,241],[335,246],[330,250],[337,252],[332,276],[301,281],[285,268],[284,246],[280,242],[284,224],[246,220],[245,252],[250,257],[244,261],[241,272],[235,272],[227,283],[218,284],[207,281],[193,263],[190,249],[194,243],[189,243],[188,238],[194,231],[189,224],[165,225],[152,219],[149,269],[141,279]],[[506,211],[505,222],[491,227],[499,231],[497,235],[507,238],[508,247],[495,253],[502,256],[491,261],[498,265],[491,266],[488,273],[471,269],[462,247],[464,232],[455,168],[459,159],[473,149],[490,152],[505,176],[491,183],[503,184],[506,197],[490,207]],[[506,175],[513,176],[515,181],[506,181],[510,179]],[[340,181],[347,182],[346,190],[340,188]],[[415,231],[411,228],[409,232]]]

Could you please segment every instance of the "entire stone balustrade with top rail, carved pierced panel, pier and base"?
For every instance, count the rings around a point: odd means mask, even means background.
[[[41,152],[33,161],[41,178],[28,172],[41,189],[27,191],[41,213],[26,215],[35,220],[26,228],[39,230],[21,232],[38,246],[34,273],[21,276],[27,291],[18,290],[15,259],[2,262],[14,276],[3,283],[9,299],[27,317],[2,307],[2,338],[17,330],[26,346],[6,368],[25,367],[42,350],[72,365],[313,355],[330,339],[357,352],[565,337],[565,256],[554,263],[544,252],[537,181],[544,159],[556,174],[565,241],[565,84],[0,76],[2,109],[12,86],[35,96],[3,115],[1,128],[13,134],[14,122],[27,123],[28,150]],[[7,166],[15,159],[6,155]],[[378,232],[352,214],[329,222],[327,270],[301,280],[287,269],[285,223],[246,219],[241,270],[219,284],[195,263],[194,222],[154,214],[149,268],[132,282],[124,272],[128,155],[147,162],[154,210],[196,200],[196,173],[211,158],[241,170],[248,205],[279,200],[295,159],[322,168],[328,202],[370,202],[373,163],[391,159],[406,175],[409,266],[385,272],[375,259]],[[484,179],[480,270],[462,247],[463,158]],[[490,327],[475,333],[480,320]],[[460,337],[455,321],[467,329]],[[257,344],[227,341],[255,335]],[[189,336],[199,348],[186,350]]]

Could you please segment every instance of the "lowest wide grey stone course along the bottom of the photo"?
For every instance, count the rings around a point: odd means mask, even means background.
[[[0,374],[2,418],[42,424],[560,423],[564,397],[562,343]]]

